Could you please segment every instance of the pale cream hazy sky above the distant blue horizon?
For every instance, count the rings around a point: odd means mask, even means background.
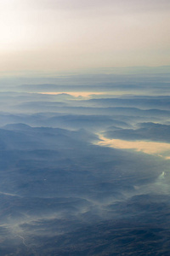
[[[169,0],[0,0],[1,72],[170,65]]]

